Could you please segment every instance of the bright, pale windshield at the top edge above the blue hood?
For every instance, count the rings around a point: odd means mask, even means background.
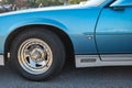
[[[107,0],[88,0],[88,1],[85,2],[84,4],[98,7],[98,6],[102,4],[102,3],[106,2],[106,1],[107,1]],[[81,3],[80,3],[80,4],[81,4]]]

